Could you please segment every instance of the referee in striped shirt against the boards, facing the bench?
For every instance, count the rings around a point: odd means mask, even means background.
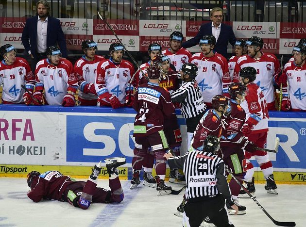
[[[198,82],[195,80],[198,67],[192,63],[185,63],[180,73],[184,82],[178,90],[171,93],[171,99],[173,103],[181,104],[181,113],[186,118],[187,150],[189,150],[193,132],[205,112],[206,105]]]

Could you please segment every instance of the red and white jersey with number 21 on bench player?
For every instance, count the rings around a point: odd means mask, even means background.
[[[192,55],[191,63],[197,65],[196,81],[202,91],[203,100],[210,105],[216,95],[228,93],[228,86],[232,80],[228,71],[227,60],[219,53],[207,58],[203,53]]]

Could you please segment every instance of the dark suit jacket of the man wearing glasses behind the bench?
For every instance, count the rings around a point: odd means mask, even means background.
[[[182,44],[183,48],[193,47],[199,44],[200,39],[203,38],[204,35],[212,35],[211,23],[204,23],[201,25],[199,32],[194,38],[189,39],[188,41]],[[217,53],[220,53],[224,57],[227,57],[227,44],[230,42],[232,46],[236,43],[236,37],[233,32],[233,28],[229,25],[221,23],[221,31],[217,43],[214,47],[214,50]]]

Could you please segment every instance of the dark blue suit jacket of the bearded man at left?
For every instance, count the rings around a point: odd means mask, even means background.
[[[24,49],[26,49],[27,52],[31,50],[31,53],[34,56],[34,58],[37,58],[36,56],[37,19],[38,16],[30,17],[27,19],[21,36],[21,41],[24,46]],[[56,46],[57,43],[61,49],[62,56],[66,58],[67,57],[66,39],[60,24],[60,20],[48,16],[47,48],[51,46]]]

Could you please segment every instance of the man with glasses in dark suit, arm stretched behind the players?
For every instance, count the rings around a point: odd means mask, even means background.
[[[182,44],[183,48],[189,48],[197,45],[204,35],[215,36],[217,43],[214,50],[224,57],[227,57],[227,44],[230,42],[232,46],[236,43],[236,37],[233,28],[222,23],[223,10],[215,7],[210,11],[210,19],[212,23],[204,23],[200,27],[198,34]]]

